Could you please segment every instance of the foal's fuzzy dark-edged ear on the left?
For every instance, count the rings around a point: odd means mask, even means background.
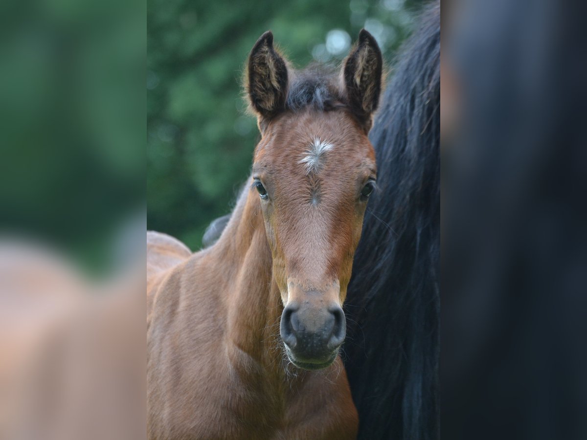
[[[288,68],[273,48],[273,34],[265,32],[249,55],[247,88],[251,106],[259,116],[269,119],[285,107]]]

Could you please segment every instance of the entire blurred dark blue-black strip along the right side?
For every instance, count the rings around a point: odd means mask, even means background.
[[[443,3],[447,439],[587,438],[587,57],[565,2]]]

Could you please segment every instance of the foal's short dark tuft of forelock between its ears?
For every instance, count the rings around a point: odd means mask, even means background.
[[[336,67],[313,64],[303,70],[295,70],[291,76],[286,110],[312,107],[329,111],[347,105]]]

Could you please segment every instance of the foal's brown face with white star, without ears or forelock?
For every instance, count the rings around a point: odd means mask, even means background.
[[[298,367],[326,367],[345,338],[342,304],[375,188],[373,147],[345,110],[285,113],[266,127],[252,178],[287,354]]]

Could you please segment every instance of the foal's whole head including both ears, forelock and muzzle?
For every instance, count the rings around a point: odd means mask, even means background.
[[[376,180],[367,133],[382,57],[367,31],[341,70],[289,69],[271,32],[248,60],[248,96],[262,134],[251,191],[258,192],[285,306],[285,350],[307,370],[330,365],[345,339],[342,303]]]

